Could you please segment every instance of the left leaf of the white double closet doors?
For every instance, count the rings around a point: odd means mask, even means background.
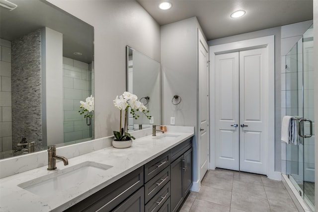
[[[215,62],[216,167],[239,170],[239,52]]]

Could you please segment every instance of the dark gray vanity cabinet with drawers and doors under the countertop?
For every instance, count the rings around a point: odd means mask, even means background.
[[[172,163],[171,163],[172,161]],[[66,212],[174,212],[192,186],[192,138]]]

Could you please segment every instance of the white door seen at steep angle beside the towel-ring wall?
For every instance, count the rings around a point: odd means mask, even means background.
[[[208,63],[208,44],[199,33],[199,52],[198,52],[198,70],[199,70],[199,165],[200,180],[203,179],[208,170],[209,158],[209,63]]]

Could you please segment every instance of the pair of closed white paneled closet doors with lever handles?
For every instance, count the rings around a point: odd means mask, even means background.
[[[267,50],[220,54],[215,62],[216,167],[266,175]]]

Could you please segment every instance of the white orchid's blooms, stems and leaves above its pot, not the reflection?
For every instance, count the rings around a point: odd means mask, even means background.
[[[126,132],[126,125],[127,125],[127,116],[128,110],[130,109],[130,114],[132,114],[134,119],[138,119],[139,115],[136,112],[141,112],[145,114],[148,119],[151,119],[151,116],[147,115],[149,110],[147,107],[138,100],[138,97],[130,92],[125,91],[119,97],[116,96],[116,99],[113,100],[115,107],[120,110],[120,130],[114,131],[115,141],[129,141],[131,139],[135,139],[135,137],[131,136],[129,133]],[[122,110],[125,111],[125,124],[124,128],[122,128]]]

